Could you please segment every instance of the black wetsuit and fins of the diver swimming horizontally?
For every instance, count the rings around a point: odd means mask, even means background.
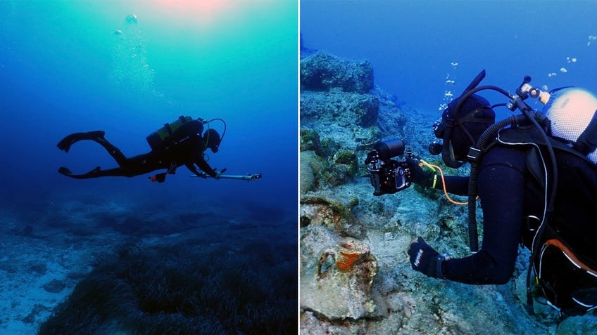
[[[168,173],[174,173],[179,166],[186,166],[189,171],[200,175],[197,167],[204,171],[209,176],[215,177],[217,173],[209,166],[205,159],[203,159],[203,150],[205,150],[205,143],[203,138],[197,133],[191,133],[189,137],[180,142],[170,145],[163,150],[152,150],[146,154],[137,155],[127,158],[124,154],[103,138],[103,131],[93,131],[90,133],[77,133],[67,136],[58,143],[58,147],[68,152],[70,145],[78,140],[94,140],[103,146],[108,153],[115,159],[119,167],[114,169],[102,170],[99,167],[89,171],[88,173],[75,175],[68,169],[61,167],[58,172],[77,179],[98,178],[103,176],[125,176],[133,177],[144,173],[156,171],[159,169],[167,169]],[[162,179],[158,181],[163,181]]]

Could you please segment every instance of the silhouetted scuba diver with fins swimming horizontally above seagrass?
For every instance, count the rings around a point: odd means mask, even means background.
[[[214,119],[216,120],[216,119]],[[217,119],[223,122],[222,119]],[[210,120],[213,121],[213,120]],[[104,147],[108,153],[118,163],[118,168],[102,170],[99,166],[84,174],[73,174],[69,169],[61,167],[59,173],[76,179],[98,178],[103,176],[139,176],[151,171],[166,169],[163,173],[149,177],[151,181],[163,183],[166,174],[174,174],[176,169],[182,165],[196,176],[219,179],[221,173],[225,171],[215,171],[212,169],[206,159],[204,159],[205,150],[208,148],[213,152],[218,152],[222,138],[218,131],[207,129],[203,133],[203,125],[210,121],[201,118],[192,119],[191,117],[179,117],[171,124],[165,124],[163,128],[154,131],[146,140],[151,147],[151,151],[146,154],[134,157],[125,157],[124,154],[112,143],[104,138],[103,131],[89,131],[87,133],[73,133],[63,138],[58,143],[58,149],[68,152],[70,146],[80,140],[93,140]],[[224,123],[225,125],[225,123]],[[203,133],[203,136],[201,135]],[[203,171],[204,173],[200,172]]]

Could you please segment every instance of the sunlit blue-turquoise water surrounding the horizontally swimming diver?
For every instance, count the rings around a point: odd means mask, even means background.
[[[130,192],[139,201],[266,204],[296,215],[296,1],[204,2],[2,1],[0,199],[36,202],[82,189]],[[125,20],[130,14],[137,23]],[[133,156],[149,151],[149,133],[182,114],[225,119],[220,152],[209,163],[263,179],[191,179],[183,168],[156,185],[146,176],[56,173],[59,166],[74,173],[115,167],[94,143],[58,150],[69,133],[106,131]],[[222,124],[212,126],[222,132]]]

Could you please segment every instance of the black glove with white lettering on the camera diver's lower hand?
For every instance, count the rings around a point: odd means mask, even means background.
[[[444,279],[441,263],[452,258],[448,255],[440,255],[422,237],[419,237],[417,242],[410,244],[408,256],[410,256],[410,265],[413,265],[413,270],[422,272],[427,277],[439,279]]]

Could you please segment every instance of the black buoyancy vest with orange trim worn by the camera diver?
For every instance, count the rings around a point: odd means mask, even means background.
[[[527,152],[522,243],[531,250],[539,247],[532,266],[548,304],[568,315],[582,315],[597,308],[597,165],[570,143],[549,140],[559,173],[548,222],[544,218],[551,164],[539,132],[534,127],[502,129],[484,152],[494,145]]]

